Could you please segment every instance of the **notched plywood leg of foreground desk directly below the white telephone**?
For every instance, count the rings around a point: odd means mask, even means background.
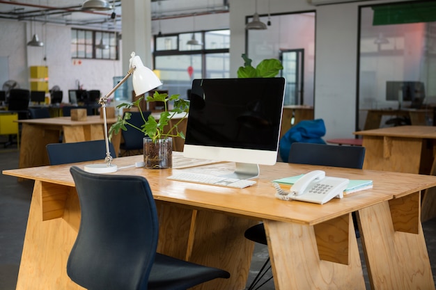
[[[265,220],[276,290],[365,289],[359,249],[349,223],[349,264],[323,261],[313,226]]]

